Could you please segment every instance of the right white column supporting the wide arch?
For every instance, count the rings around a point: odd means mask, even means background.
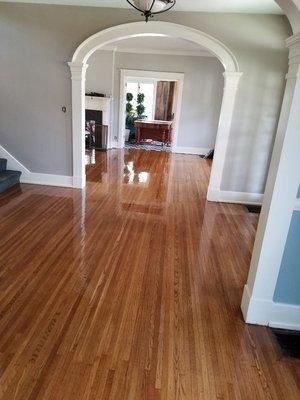
[[[225,164],[226,150],[229,140],[234,104],[241,72],[224,72],[224,92],[220,111],[218,132],[216,137],[214,160],[207,191],[207,199],[219,201],[221,181]]]

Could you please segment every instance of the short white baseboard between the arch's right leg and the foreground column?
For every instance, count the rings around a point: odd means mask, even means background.
[[[263,202],[263,194],[208,189],[207,199],[208,201],[221,203],[261,205]]]

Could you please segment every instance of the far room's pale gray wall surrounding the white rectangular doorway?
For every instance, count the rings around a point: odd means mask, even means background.
[[[88,64],[87,88],[108,94],[112,94],[114,88],[112,136],[115,140],[119,134],[120,70],[182,72],[185,76],[177,145],[214,147],[224,82],[224,68],[216,58],[116,52],[113,61],[113,52],[96,51]],[[113,64],[114,78],[111,74]]]

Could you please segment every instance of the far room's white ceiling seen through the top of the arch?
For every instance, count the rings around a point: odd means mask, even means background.
[[[127,53],[173,54],[198,57],[212,55],[204,47],[187,40],[153,36],[118,40],[102,49],[115,49],[116,51]]]

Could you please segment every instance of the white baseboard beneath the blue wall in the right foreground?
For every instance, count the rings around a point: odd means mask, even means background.
[[[300,331],[300,305],[255,299],[250,296],[247,285],[244,287],[241,309],[248,324]]]

